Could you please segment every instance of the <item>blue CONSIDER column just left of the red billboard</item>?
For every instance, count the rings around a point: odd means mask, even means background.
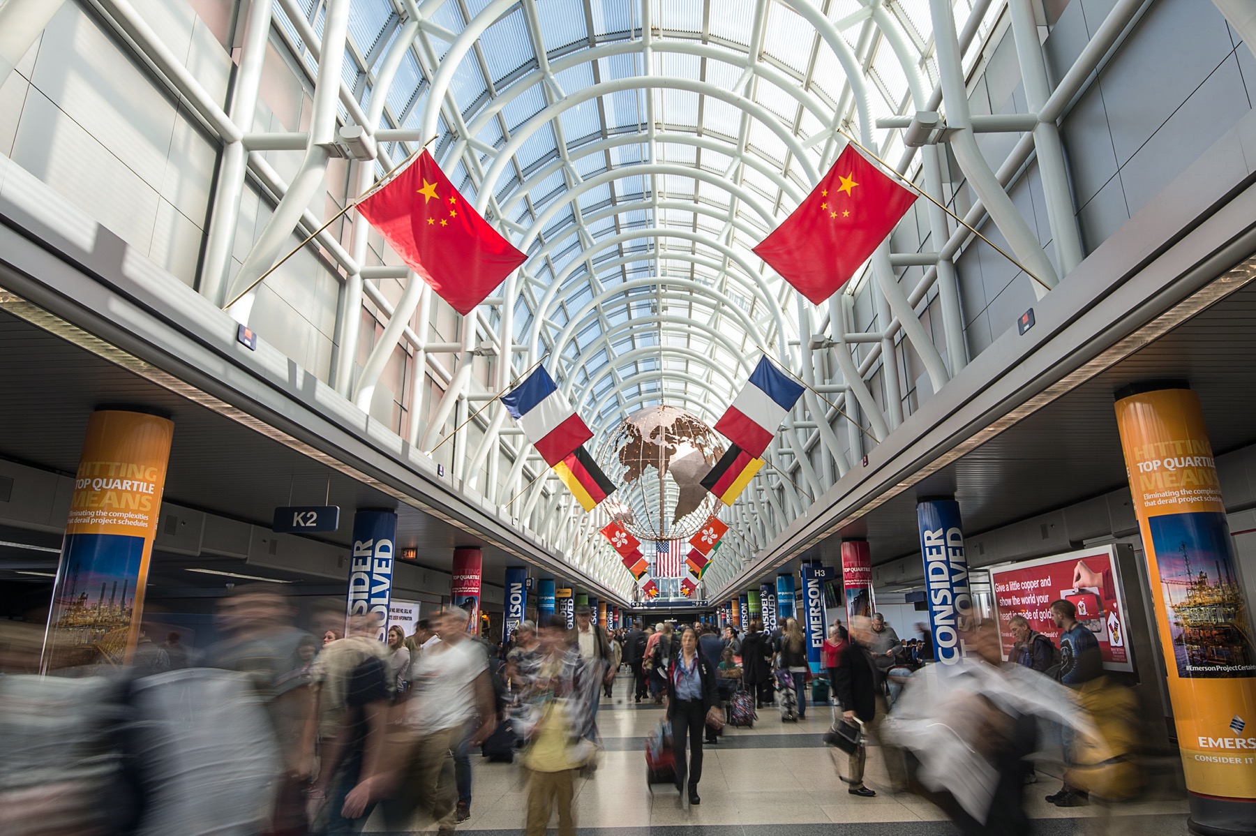
[[[916,518],[921,526],[933,658],[943,665],[958,664],[968,655],[960,630],[972,614],[960,503],[951,498],[921,500],[916,503]]]

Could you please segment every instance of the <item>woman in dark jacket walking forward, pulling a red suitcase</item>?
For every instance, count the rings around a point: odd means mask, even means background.
[[[716,697],[715,670],[698,653],[698,638],[693,628],[685,628],[679,649],[667,672],[667,719],[672,723],[676,746],[676,788],[685,792],[685,738],[690,741],[688,791],[690,803],[698,798],[698,781],[702,780],[702,738],[707,714],[721,714]]]

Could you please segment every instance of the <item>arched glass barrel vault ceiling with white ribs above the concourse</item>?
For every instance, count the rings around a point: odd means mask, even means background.
[[[451,44],[490,5],[353,0],[345,84],[365,103],[387,48],[418,16],[379,126],[418,129]],[[863,68],[873,121],[912,109],[904,55],[926,89],[936,84],[926,0],[810,5]],[[957,29],[975,5],[982,20],[965,69],[1004,4],[956,0]],[[780,0],[502,8],[460,62],[431,147],[471,197],[514,139],[486,215],[529,255],[515,340],[539,358],[569,331],[561,359],[546,365],[599,437],[661,402],[713,421],[745,379],[739,363],[752,363],[760,346],[788,354],[781,346],[799,340],[793,291],[750,249],[842,151],[834,124],[858,132],[843,65],[816,25]],[[323,1],[280,0],[278,9],[313,67],[288,15],[303,14],[322,33]],[[873,136],[883,157],[898,158],[899,131]],[[417,143],[386,149],[399,161]],[[495,328],[501,309],[489,313]]]

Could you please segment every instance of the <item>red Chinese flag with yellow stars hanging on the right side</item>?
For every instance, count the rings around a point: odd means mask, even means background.
[[[755,254],[819,305],[850,280],[916,202],[847,146],[833,168]]]

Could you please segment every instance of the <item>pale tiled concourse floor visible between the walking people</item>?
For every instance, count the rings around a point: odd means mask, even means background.
[[[644,736],[662,718],[662,709],[634,705],[627,678],[615,683],[614,698],[603,700],[598,726],[605,744],[600,767],[579,781],[575,797],[582,836],[923,836],[958,832],[932,803],[912,795],[885,791],[885,771],[877,751],[868,758],[867,783],[875,798],[847,792],[838,778],[835,751],[820,742],[830,723],[829,709],[809,710],[800,723],[782,723],[775,709],[762,709],[751,729],[726,728],[718,746],[706,747],[702,803],[682,808],[674,788],[646,786]],[[842,766],[845,757],[836,753]],[[514,764],[472,758],[471,818],[458,826],[462,836],[501,836],[521,831],[528,797],[522,771]],[[1114,833],[1159,836],[1186,833],[1186,800],[1128,805],[1112,815],[1098,806],[1061,810],[1042,797],[1059,783],[1046,776],[1026,792],[1030,815],[1044,836]],[[368,822],[367,832],[372,832]],[[551,821],[551,830],[556,821]],[[597,828],[594,835],[589,831]],[[700,831],[708,831],[700,833]],[[378,832],[378,831],[374,831]],[[1029,835],[1026,835],[1029,836]]]

